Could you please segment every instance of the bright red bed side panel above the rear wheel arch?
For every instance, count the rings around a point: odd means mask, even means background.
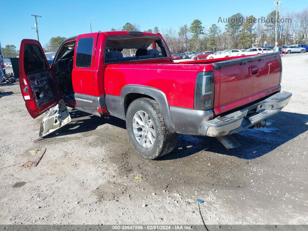
[[[154,87],[166,94],[169,105],[193,108],[198,72],[212,65],[194,64],[109,64],[105,69],[106,94],[120,96],[128,84]]]

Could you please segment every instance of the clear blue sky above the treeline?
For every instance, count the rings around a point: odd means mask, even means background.
[[[281,9],[298,12],[308,6],[307,0],[281,0]],[[39,39],[44,45],[51,37],[71,37],[92,31],[110,31],[111,28],[122,28],[127,22],[140,25],[141,31],[158,27],[161,29],[188,26],[194,19],[200,19],[202,25],[209,27],[217,23],[219,17],[241,13],[256,18],[266,16],[275,9],[274,0],[253,1],[206,1],[206,0],[172,0],[172,1],[140,1],[140,0],[6,0],[1,4],[1,12],[5,12],[0,23],[1,46],[13,44],[19,50],[22,39],[36,39],[34,17],[38,18]]]

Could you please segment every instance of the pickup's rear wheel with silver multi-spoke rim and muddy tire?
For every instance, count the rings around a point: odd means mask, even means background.
[[[142,113],[142,115],[145,117],[145,114],[147,113],[149,116],[148,121],[152,121],[152,126],[151,130],[155,130],[155,138],[153,142],[150,143],[150,147],[144,147],[142,144],[140,144],[140,141],[137,140],[137,137],[135,136],[135,133],[143,133],[145,129],[150,130],[150,127],[146,128],[136,128],[136,126],[140,126],[140,124],[135,124],[133,128],[133,122],[135,120],[134,116],[137,115],[138,117],[138,112]],[[141,117],[138,117],[139,119]],[[150,124],[150,122],[149,122]],[[129,139],[132,143],[132,146],[136,149],[136,151],[142,155],[146,159],[156,159],[159,158],[163,155],[168,154],[171,152],[174,147],[176,146],[177,142],[177,133],[171,133],[170,131],[167,130],[167,127],[164,122],[164,118],[160,112],[160,106],[158,105],[157,101],[149,99],[149,98],[139,98],[134,101],[129,105],[127,113],[126,113],[126,128],[128,132]],[[140,131],[142,130],[142,131]],[[148,134],[147,132],[145,132]],[[151,134],[150,134],[151,136]],[[148,144],[148,140],[152,140],[152,138],[146,137],[146,144]],[[142,135],[140,140],[142,139]],[[145,139],[145,138],[144,138]],[[144,144],[144,142],[141,143]]]

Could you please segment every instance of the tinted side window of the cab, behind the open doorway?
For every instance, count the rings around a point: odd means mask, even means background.
[[[94,38],[79,39],[76,51],[76,67],[91,67]]]

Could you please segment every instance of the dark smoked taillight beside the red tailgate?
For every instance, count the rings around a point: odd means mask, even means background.
[[[208,110],[214,104],[214,78],[213,72],[199,72],[195,86],[194,109]]]

